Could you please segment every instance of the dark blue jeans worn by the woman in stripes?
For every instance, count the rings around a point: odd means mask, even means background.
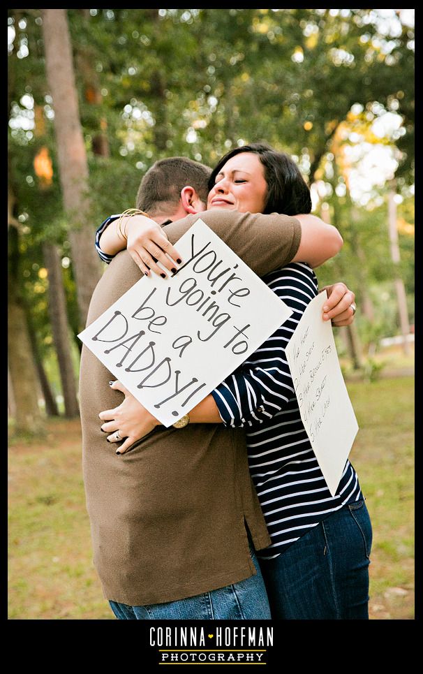
[[[260,559],[272,618],[368,620],[371,540],[362,499],[329,515],[279,557]]]

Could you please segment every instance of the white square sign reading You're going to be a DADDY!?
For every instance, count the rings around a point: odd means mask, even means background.
[[[292,314],[201,219],[177,247],[176,274],[142,277],[78,335],[166,427]]]

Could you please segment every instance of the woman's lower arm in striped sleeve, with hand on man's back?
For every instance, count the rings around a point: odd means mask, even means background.
[[[317,281],[306,265],[299,264],[290,265],[273,275],[269,287],[294,313],[251,358],[189,412],[190,423],[223,422],[228,427],[251,426],[272,418],[295,395],[285,346],[304,309],[317,294]],[[278,344],[276,348],[275,343]],[[281,347],[281,344],[284,346]],[[117,450],[117,453],[123,454],[160,422],[119,381],[114,381],[111,386],[126,397],[117,408],[103,411],[98,416],[108,422],[101,427],[103,431],[112,433],[119,430],[120,437],[126,438]],[[114,437],[107,439],[117,441]]]

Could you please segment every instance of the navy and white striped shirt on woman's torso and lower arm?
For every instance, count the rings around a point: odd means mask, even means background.
[[[226,426],[246,429],[248,464],[272,545],[259,557],[277,557],[344,504],[362,498],[347,460],[336,494],[327,488],[301,420],[285,347],[306,306],[316,276],[290,263],[263,279],[292,309],[285,323],[212,392]]]

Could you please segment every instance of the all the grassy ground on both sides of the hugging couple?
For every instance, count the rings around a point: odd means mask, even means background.
[[[373,521],[373,620],[413,620],[413,377],[353,381],[350,458]],[[9,448],[10,620],[114,620],[91,560],[79,420]]]

